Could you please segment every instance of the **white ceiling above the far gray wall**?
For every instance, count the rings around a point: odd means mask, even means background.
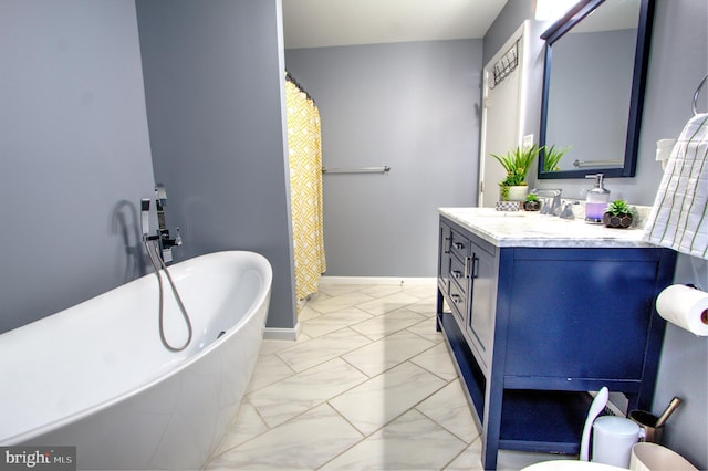
[[[480,39],[507,0],[282,0],[287,49]]]

